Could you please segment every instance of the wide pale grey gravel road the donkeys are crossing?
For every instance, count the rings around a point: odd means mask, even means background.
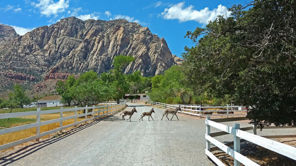
[[[176,117],[173,121],[165,117],[160,121],[164,109],[154,107],[154,121],[151,118],[148,121],[147,116],[139,121],[140,115],[150,111],[152,106],[128,105],[125,110],[136,107],[138,111],[131,122],[122,121],[120,112],[81,127],[58,141],[22,150],[16,157],[0,160],[0,165],[213,165],[205,156],[205,118],[177,114],[180,121]],[[251,125],[241,125],[245,126]],[[214,131],[218,130],[211,130]],[[219,140],[233,140],[233,136],[221,136]]]

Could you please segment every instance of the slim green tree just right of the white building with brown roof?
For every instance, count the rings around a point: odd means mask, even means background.
[[[56,92],[62,96],[62,99],[67,102],[68,106],[70,106],[71,101],[73,100],[70,89],[74,85],[74,83],[74,76],[69,76],[65,82],[61,80],[57,82]]]

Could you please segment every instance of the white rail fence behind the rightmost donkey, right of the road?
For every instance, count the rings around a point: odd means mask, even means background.
[[[153,102],[153,101],[147,101],[147,104],[150,105],[155,105],[158,107],[162,107],[162,108],[166,108],[166,109],[174,109],[177,108],[179,105],[171,105],[171,104],[165,104],[165,103],[161,103],[161,102]],[[201,116],[227,116],[227,118],[229,117],[229,115],[231,116],[246,116],[247,110],[232,110],[234,108],[244,108],[242,106],[200,106],[200,105],[181,105],[181,111],[178,111],[179,113],[186,113],[186,114],[191,114],[191,115],[197,115],[199,117]],[[205,110],[205,109],[217,109],[217,108],[222,108],[226,110]],[[205,115],[205,113],[208,112],[225,112],[225,114],[207,114]],[[241,112],[239,114],[229,114],[229,112]]]

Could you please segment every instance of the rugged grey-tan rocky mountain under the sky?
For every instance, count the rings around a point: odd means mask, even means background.
[[[164,38],[125,19],[82,21],[68,17],[23,36],[0,25],[0,72],[9,79],[40,81],[65,79],[89,70],[107,72],[117,55],[135,58],[124,70],[126,74],[140,70],[144,76],[163,73],[183,61],[172,55]]]

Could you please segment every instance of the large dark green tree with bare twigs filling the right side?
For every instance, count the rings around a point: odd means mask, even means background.
[[[185,37],[184,69],[189,82],[238,105],[253,106],[247,117],[263,127],[296,126],[295,0],[256,0],[234,5]]]

